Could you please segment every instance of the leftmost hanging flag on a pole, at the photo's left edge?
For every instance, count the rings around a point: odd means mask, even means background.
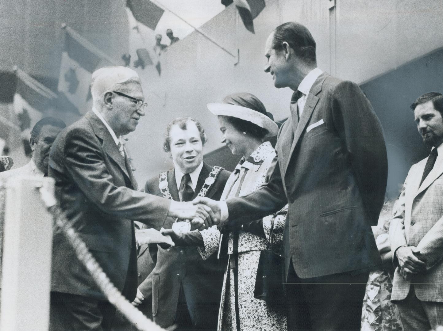
[[[14,112],[19,120],[21,136],[28,141],[31,138],[31,129],[54,104],[57,94],[19,68],[14,67],[14,72],[17,82],[13,101]]]

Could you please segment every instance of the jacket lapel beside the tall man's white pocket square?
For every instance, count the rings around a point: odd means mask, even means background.
[[[317,96],[320,91],[322,90],[323,81],[326,79],[326,77],[329,76],[327,73],[322,73],[314,82],[314,84],[311,87],[311,90],[309,91],[309,94],[306,99],[306,103],[303,108],[302,115],[300,116],[300,121],[297,125],[297,127],[293,126],[294,131],[294,140],[291,144],[291,149],[288,153],[288,158],[284,164],[284,174],[286,173],[286,170],[288,169],[289,162],[291,161],[292,153],[295,150],[295,146],[297,146],[297,143],[299,141],[300,136],[302,135],[307,123],[309,122],[309,119],[311,118],[312,112],[314,112],[315,106],[319,102],[319,97]]]

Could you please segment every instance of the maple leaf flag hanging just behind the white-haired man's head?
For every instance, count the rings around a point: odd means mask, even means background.
[[[84,114],[90,107],[90,82],[95,69],[105,65],[115,65],[112,58],[99,50],[70,27],[65,29],[65,48],[62,53],[58,91],[60,107],[72,107]]]

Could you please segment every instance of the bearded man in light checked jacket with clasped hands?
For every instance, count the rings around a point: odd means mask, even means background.
[[[396,266],[391,300],[405,331],[443,325],[443,95],[425,93],[411,108],[432,149],[409,170],[389,227]]]

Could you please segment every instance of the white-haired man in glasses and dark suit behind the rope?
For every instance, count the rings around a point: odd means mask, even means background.
[[[140,79],[116,66],[92,75],[91,112],[62,131],[50,154],[60,206],[109,279],[130,301],[136,296],[133,220],[159,229],[167,216],[209,216],[190,203],[137,192],[119,137],[144,116]],[[95,285],[60,231],[53,238],[51,330],[109,330],[115,309]]]

